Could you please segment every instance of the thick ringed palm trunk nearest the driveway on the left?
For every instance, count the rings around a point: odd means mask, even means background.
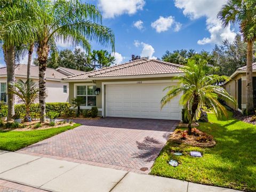
[[[37,49],[39,62],[39,107],[40,107],[40,122],[45,122],[45,98],[46,98],[46,62],[49,55],[49,46],[43,44]]]

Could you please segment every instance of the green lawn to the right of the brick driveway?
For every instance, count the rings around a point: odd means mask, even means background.
[[[210,123],[201,123],[198,127],[214,136],[216,146],[200,148],[167,142],[150,174],[256,191],[256,126],[231,118],[231,113],[229,116],[229,121],[218,121],[209,114]],[[189,156],[194,150],[201,151],[203,157]],[[185,155],[174,156],[172,151],[181,151]],[[177,160],[179,166],[170,166],[167,163],[170,159]]]

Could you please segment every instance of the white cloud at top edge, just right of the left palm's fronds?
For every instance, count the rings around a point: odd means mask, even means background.
[[[99,7],[104,18],[114,18],[122,14],[134,14],[142,10],[144,0],[99,0]]]

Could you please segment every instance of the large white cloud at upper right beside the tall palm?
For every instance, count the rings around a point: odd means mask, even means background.
[[[198,40],[198,44],[221,44],[225,39],[233,41],[236,35],[230,26],[223,28],[217,18],[217,13],[226,2],[227,0],[197,0],[196,3],[194,0],[175,0],[175,6],[183,9],[183,14],[191,20],[206,17],[206,29],[209,31],[210,37]]]

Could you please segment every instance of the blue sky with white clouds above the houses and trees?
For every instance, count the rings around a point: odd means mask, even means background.
[[[117,63],[132,54],[161,58],[166,50],[211,51],[224,39],[233,41],[237,28],[224,29],[216,14],[227,0],[95,0],[103,15],[103,25],[115,34]],[[88,1],[87,1],[88,2]],[[58,43],[60,50],[74,47]],[[107,49],[92,42],[93,49]],[[34,57],[36,55],[34,54]],[[27,57],[21,58],[27,62]],[[3,55],[0,55],[2,66]]]

